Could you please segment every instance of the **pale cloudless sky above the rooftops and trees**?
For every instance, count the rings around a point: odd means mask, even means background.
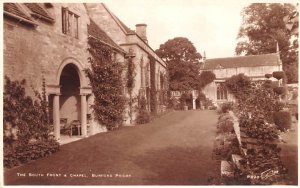
[[[101,0],[129,28],[147,24],[149,45],[186,37],[206,58],[235,55],[241,11],[250,4],[242,0]]]

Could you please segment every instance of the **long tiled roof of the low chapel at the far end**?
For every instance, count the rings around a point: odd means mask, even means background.
[[[258,67],[279,65],[277,53],[206,59],[203,69]]]

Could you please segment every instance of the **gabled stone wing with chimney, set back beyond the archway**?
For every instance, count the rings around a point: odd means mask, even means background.
[[[89,16],[107,35],[126,52],[128,58],[132,58],[135,65],[135,84],[132,96],[144,96],[148,109],[154,113],[164,110],[164,95],[168,88],[166,80],[166,63],[161,60],[149,46],[147,40],[147,25],[136,24],[136,30],[128,28],[108,7],[103,4],[85,4]],[[152,76],[151,76],[152,72]],[[156,94],[151,94],[151,88]],[[151,98],[158,101],[157,108],[151,107]],[[154,99],[153,99],[154,100]],[[135,116],[135,114],[133,114]],[[134,119],[134,117],[132,117]],[[128,118],[127,118],[128,120]],[[127,122],[129,123],[129,122]]]

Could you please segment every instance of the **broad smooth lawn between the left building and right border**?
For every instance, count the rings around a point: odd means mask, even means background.
[[[210,185],[215,111],[174,111],[62,145],[60,151],[6,170],[6,185]]]

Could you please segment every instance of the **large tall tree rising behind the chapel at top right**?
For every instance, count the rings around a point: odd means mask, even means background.
[[[292,42],[293,33],[284,18],[295,10],[292,4],[279,3],[253,3],[244,8],[235,49],[238,55],[274,53],[278,43],[289,83],[298,81],[298,42]]]

